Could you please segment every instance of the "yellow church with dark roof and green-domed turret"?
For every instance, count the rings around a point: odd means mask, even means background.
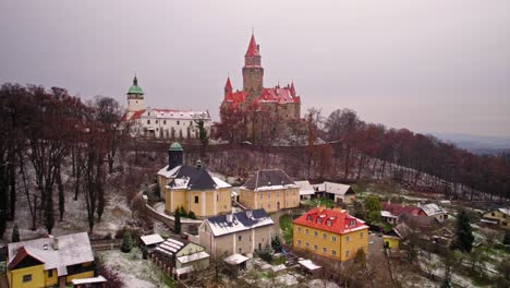
[[[177,142],[170,146],[168,158],[168,165],[158,171],[167,214],[173,214],[179,207],[198,218],[231,212],[230,184],[211,177],[201,160],[196,166],[183,165],[183,148]]]

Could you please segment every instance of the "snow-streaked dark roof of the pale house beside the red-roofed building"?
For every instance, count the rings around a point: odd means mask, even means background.
[[[207,218],[206,223],[216,237],[275,225],[271,217],[269,217],[264,209],[243,211],[235,214],[214,216]]]

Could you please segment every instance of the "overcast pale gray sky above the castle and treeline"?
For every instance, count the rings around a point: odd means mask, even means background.
[[[125,105],[134,71],[151,107],[209,109],[242,88],[252,26],[265,86],[303,109],[356,110],[416,132],[510,135],[510,1],[0,2],[0,82]]]

